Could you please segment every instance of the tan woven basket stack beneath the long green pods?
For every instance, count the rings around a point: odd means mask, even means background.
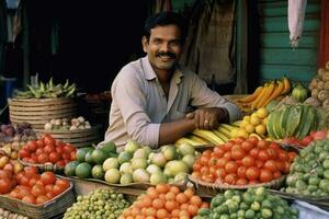
[[[78,114],[75,99],[8,99],[11,123],[29,123],[34,129],[43,129],[52,118],[72,118]]]

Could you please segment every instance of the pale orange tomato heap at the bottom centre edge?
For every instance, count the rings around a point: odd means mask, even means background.
[[[208,208],[192,188],[181,192],[179,187],[169,184],[158,184],[149,187],[145,195],[137,200],[120,217],[126,218],[181,218],[190,219],[197,215],[198,209]]]

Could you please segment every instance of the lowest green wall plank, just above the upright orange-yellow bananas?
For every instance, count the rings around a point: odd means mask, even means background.
[[[261,81],[281,79],[286,76],[290,80],[310,82],[317,73],[316,66],[261,65]]]

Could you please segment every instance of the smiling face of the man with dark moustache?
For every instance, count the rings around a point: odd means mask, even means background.
[[[181,31],[177,25],[156,26],[149,42],[143,37],[143,49],[154,68],[170,70],[178,62],[181,51]]]

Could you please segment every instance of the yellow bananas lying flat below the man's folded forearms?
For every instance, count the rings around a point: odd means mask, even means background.
[[[204,145],[223,145],[227,142],[231,136],[230,132],[235,128],[239,127],[240,122],[232,124],[220,124],[217,129],[204,130],[194,129],[191,135],[182,137],[175,141],[175,145],[190,143],[192,146]]]

